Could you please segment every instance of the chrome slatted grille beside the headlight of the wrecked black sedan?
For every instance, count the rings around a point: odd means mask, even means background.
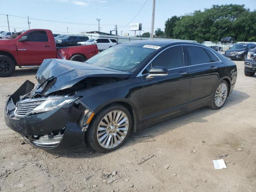
[[[40,99],[35,101],[30,101],[30,99],[26,99],[24,101],[18,102],[16,109],[14,111],[14,115],[16,117],[24,117],[31,113],[31,111],[36,108],[36,106],[40,105],[44,100]]]

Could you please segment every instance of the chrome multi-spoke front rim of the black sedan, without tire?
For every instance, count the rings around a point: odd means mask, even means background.
[[[98,125],[98,143],[106,149],[114,148],[124,140],[128,129],[127,115],[120,110],[111,111],[102,118]]]

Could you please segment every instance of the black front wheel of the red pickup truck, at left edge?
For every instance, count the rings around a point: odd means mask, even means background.
[[[8,77],[15,71],[15,62],[6,55],[0,55],[0,77]]]

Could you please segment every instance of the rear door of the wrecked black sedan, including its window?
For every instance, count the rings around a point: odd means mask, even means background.
[[[188,110],[204,106],[218,84],[221,60],[208,48],[187,45],[191,86]]]

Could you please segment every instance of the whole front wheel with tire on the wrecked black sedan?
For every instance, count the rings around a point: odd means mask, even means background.
[[[122,114],[122,113],[124,114],[124,117],[120,118],[120,116],[122,115],[118,116],[118,114]],[[111,114],[115,117],[114,123],[116,126],[112,124],[108,116]],[[106,121],[106,119],[108,121]],[[110,122],[110,123],[107,123],[107,122]],[[121,126],[118,127],[117,122],[119,123],[122,122]],[[128,125],[127,125],[127,122],[128,122]],[[101,127],[100,127],[100,124],[101,124]],[[108,126],[104,126],[104,124],[108,124]],[[101,130],[99,130],[98,128],[100,128]],[[101,153],[111,152],[124,144],[124,142],[127,140],[130,134],[131,128],[132,128],[132,117],[128,109],[120,104],[112,104],[106,108],[103,108],[100,112],[98,112],[94,116],[86,132],[86,142],[94,150],[98,152],[101,152]]]

